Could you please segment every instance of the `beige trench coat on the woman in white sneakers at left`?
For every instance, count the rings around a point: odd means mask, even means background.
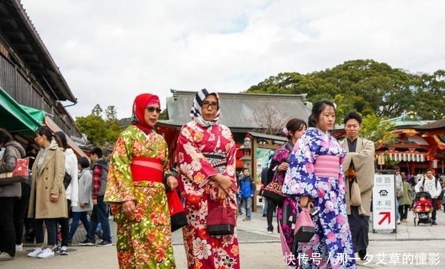
[[[29,218],[67,218],[67,199],[63,176],[65,175],[65,154],[59,147],[48,149],[42,169],[37,174],[37,163],[42,151],[35,157],[33,165],[31,197],[29,198]],[[51,194],[58,195],[57,202],[51,202]]]

